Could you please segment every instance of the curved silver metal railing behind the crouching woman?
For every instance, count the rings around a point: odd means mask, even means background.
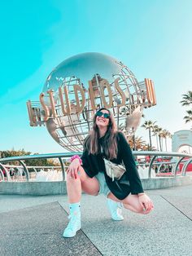
[[[81,152],[66,152],[66,153],[49,153],[49,154],[39,154],[39,155],[28,155],[28,156],[20,156],[20,157],[5,157],[0,158],[0,177],[2,177],[2,181],[12,181],[11,175],[8,169],[10,168],[19,168],[22,170],[22,175],[24,172],[25,181],[29,181],[29,169],[33,169],[35,173],[37,172],[36,169],[61,169],[63,180],[66,179],[65,177],[65,170],[67,166],[65,165],[66,160],[69,157],[72,157],[73,155],[79,155],[81,156]],[[150,161],[148,163],[144,163],[144,165],[148,165],[148,179],[151,179],[151,170],[154,166],[159,166],[157,173],[160,172],[160,167],[162,165],[172,165],[172,171],[171,175],[176,177],[177,176],[177,170],[181,163],[183,163],[183,166],[181,168],[181,175],[185,176],[186,170],[190,163],[192,162],[192,155],[185,154],[185,153],[179,153],[179,152],[153,152],[153,151],[133,151],[134,157],[139,156],[149,156]],[[161,162],[155,162],[157,157],[172,157],[172,161],[161,161]],[[33,160],[33,159],[50,159],[50,158],[58,158],[60,166],[26,166],[24,161],[25,160]],[[187,158],[185,160],[184,158]],[[11,163],[11,161],[19,161],[20,166],[11,166],[7,165],[6,163]],[[139,164],[141,166],[141,164]],[[20,175],[21,175],[20,174]],[[170,176],[169,176],[170,177]]]

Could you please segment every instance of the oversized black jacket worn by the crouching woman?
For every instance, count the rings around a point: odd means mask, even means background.
[[[99,139],[100,146],[103,145],[105,136]],[[120,200],[123,200],[131,192],[133,195],[143,192],[141,179],[137,172],[131,148],[129,143],[124,138],[124,134],[120,131],[116,134],[117,139],[117,157],[111,161],[116,164],[124,164],[125,173],[120,180],[114,180],[107,176],[105,165],[103,161],[103,154],[89,154],[84,148],[82,159],[82,167],[90,178],[93,178],[98,172],[103,172],[105,175],[106,183],[110,191]]]

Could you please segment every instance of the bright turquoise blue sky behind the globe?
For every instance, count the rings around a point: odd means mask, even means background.
[[[171,133],[190,129],[181,95],[192,90],[192,1],[33,0],[0,3],[0,150],[63,152],[46,128],[28,125],[26,101],[64,59],[97,51],[155,82],[147,120]],[[138,136],[147,140],[143,128]],[[171,142],[169,141],[169,150]]]

